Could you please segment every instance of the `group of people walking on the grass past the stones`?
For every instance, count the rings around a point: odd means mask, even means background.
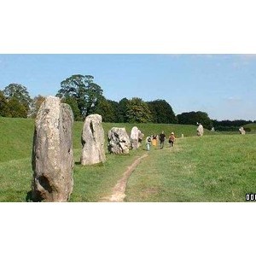
[[[168,143],[170,144],[170,148],[173,147],[175,140],[176,140],[176,137],[174,135],[174,132],[172,131],[170,136],[168,137]],[[164,131],[162,131],[160,133],[160,135],[154,134],[154,135],[146,137],[146,147],[147,147],[147,150],[148,151],[150,150],[151,143],[154,146],[154,148],[156,148],[158,141],[160,143],[159,144],[159,148],[160,149],[164,148],[164,144],[165,144],[165,141],[166,141],[166,134],[165,134]]]

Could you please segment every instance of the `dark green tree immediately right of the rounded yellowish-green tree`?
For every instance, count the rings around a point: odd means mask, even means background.
[[[172,107],[165,100],[147,102],[153,115],[153,122],[158,124],[177,124],[177,117]]]

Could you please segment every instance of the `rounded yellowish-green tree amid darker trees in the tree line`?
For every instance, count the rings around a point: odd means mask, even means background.
[[[134,97],[127,103],[126,119],[129,123],[148,123],[152,118],[148,104],[141,98]]]

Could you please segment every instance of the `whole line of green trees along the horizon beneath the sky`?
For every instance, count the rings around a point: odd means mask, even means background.
[[[196,125],[201,123],[207,129],[218,127],[241,126],[252,123],[251,120],[218,121],[209,118],[206,112],[192,111],[175,115],[171,105],[162,99],[144,102],[139,97],[123,98],[119,102],[103,96],[100,85],[91,75],[75,74],[61,82],[56,95],[61,102],[70,105],[75,120],[84,120],[91,113],[102,115],[103,122],[110,123],[158,123]],[[0,116],[13,118],[35,118],[44,96],[33,99],[26,86],[9,84],[0,90]]]

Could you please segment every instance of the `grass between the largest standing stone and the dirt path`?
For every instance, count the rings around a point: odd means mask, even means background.
[[[101,201],[111,195],[114,185],[123,176],[127,166],[144,153],[142,149],[131,150],[127,155],[107,154],[107,161],[96,166],[81,166],[80,151],[76,150],[74,167],[74,186],[70,201]]]

